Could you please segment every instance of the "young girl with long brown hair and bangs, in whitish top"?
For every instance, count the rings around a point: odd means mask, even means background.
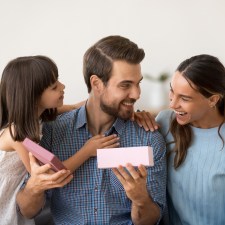
[[[1,225],[34,224],[16,211],[16,193],[26,172],[30,172],[28,152],[21,142],[25,137],[40,141],[40,125],[56,118],[56,108],[63,105],[64,88],[58,81],[57,66],[45,56],[16,58],[3,71],[0,83]],[[72,179],[71,171],[96,155],[96,148],[117,147],[117,142],[118,138],[112,135],[90,139],[76,155],[64,162],[68,170],[56,173],[61,180],[57,187],[67,184]],[[46,189],[54,187],[49,184]]]

